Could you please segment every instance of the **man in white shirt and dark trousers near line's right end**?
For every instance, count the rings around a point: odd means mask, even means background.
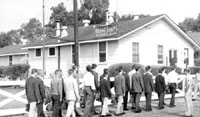
[[[176,68],[173,67],[172,71],[169,72],[168,74],[169,90],[170,90],[170,93],[172,94],[169,107],[175,107],[175,93],[176,93],[176,86],[177,86],[177,81],[178,81],[177,77],[178,75],[176,73]]]

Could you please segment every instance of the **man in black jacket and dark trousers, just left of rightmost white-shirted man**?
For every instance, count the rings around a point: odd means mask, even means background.
[[[159,69],[159,74],[156,76],[155,91],[158,93],[158,109],[163,109],[165,78],[162,76],[162,69]]]

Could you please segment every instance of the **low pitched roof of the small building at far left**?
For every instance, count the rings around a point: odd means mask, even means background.
[[[0,56],[27,54],[28,51],[22,49],[22,45],[9,45],[0,48]]]

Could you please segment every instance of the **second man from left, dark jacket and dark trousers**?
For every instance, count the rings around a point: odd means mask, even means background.
[[[45,99],[45,88],[44,88],[44,82],[42,80],[42,70],[38,70],[37,72],[37,78],[36,78],[36,83],[39,88],[39,103],[37,103],[37,113],[38,117],[45,117],[44,111],[43,111],[43,102]]]

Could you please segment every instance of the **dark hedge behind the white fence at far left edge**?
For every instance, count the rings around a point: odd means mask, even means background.
[[[28,64],[13,64],[11,66],[0,66],[0,76],[9,76],[11,80],[22,77],[29,70]]]

